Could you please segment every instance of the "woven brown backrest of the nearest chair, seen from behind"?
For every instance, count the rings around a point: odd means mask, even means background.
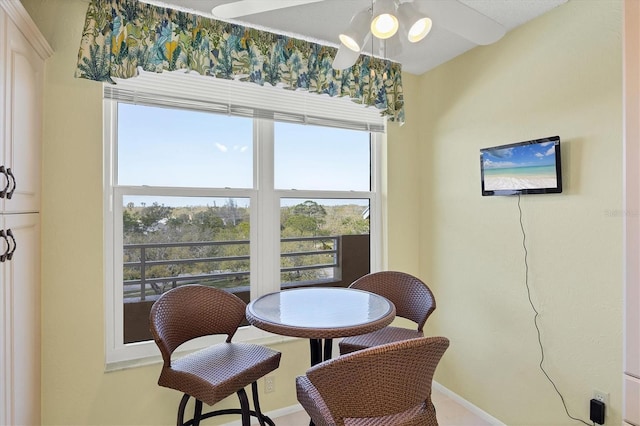
[[[445,337],[389,343],[318,364],[307,377],[337,424],[393,415],[431,406],[433,374],[448,347]]]

